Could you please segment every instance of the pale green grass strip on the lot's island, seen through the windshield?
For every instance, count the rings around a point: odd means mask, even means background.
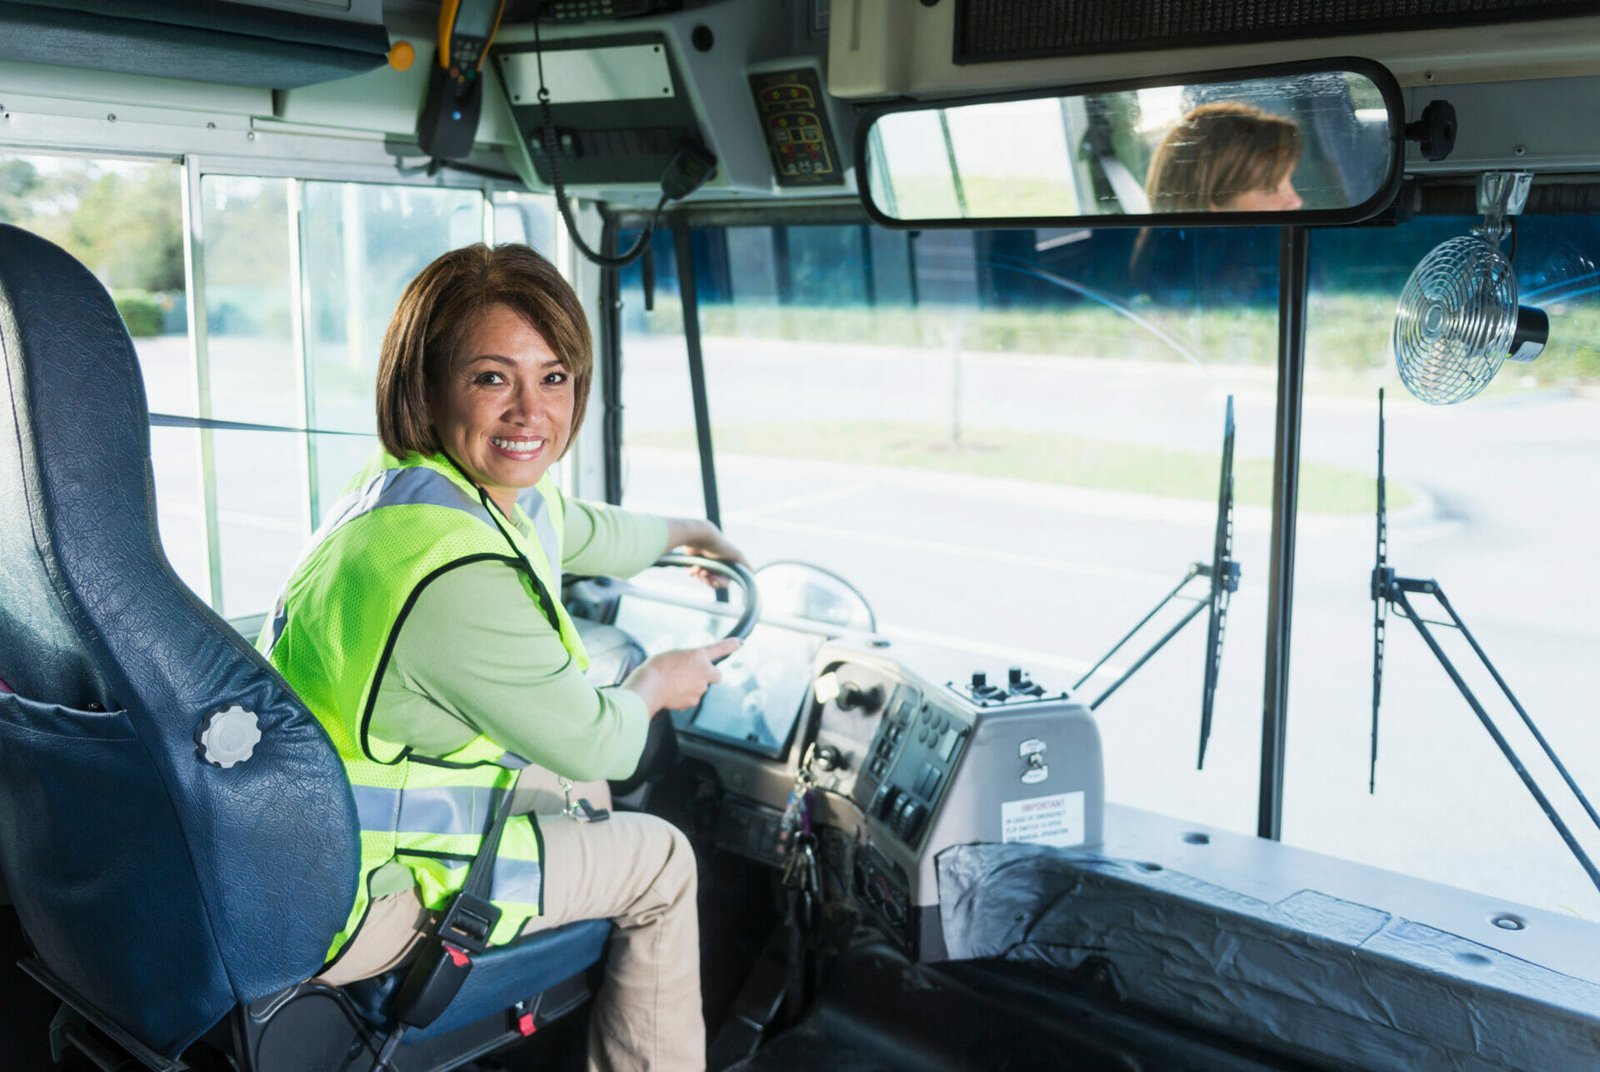
[[[694,450],[691,432],[654,432],[629,437],[642,446]],[[1218,456],[1166,446],[1141,446],[1106,440],[965,429],[952,445],[934,424],[819,422],[819,424],[718,424],[718,454],[859,462],[906,469],[933,469],[971,477],[1003,477],[1038,483],[1133,491],[1181,499],[1216,499]],[[1240,506],[1272,504],[1272,462],[1237,458],[1234,488]],[[1312,514],[1366,514],[1373,509],[1371,474],[1320,462],[1301,467],[1299,504]],[[1403,509],[1414,493],[1389,485],[1389,507]]]

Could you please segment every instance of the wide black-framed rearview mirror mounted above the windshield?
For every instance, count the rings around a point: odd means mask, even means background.
[[[915,227],[1355,222],[1405,158],[1400,88],[1363,59],[896,104],[861,131],[867,211]]]

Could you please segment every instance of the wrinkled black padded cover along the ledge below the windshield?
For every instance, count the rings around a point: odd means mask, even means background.
[[[1245,840],[1208,837],[1206,853]],[[1595,1067],[1600,986],[1302,886],[1317,872],[1293,853],[1274,854],[1275,874],[1261,867],[1219,885],[1088,850],[955,845],[938,858],[939,917],[952,958],[1005,958],[1069,976],[1093,960],[1130,1006],[1317,1067]],[[1258,896],[1274,890],[1285,893]]]

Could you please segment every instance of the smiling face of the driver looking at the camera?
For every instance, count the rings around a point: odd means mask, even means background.
[[[571,373],[507,306],[491,306],[467,331],[427,402],[440,445],[507,515],[573,429]]]

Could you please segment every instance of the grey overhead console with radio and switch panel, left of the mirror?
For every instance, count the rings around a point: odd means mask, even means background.
[[[485,90],[502,107],[486,107],[485,125],[515,123],[507,155],[530,189],[554,186],[546,141],[568,192],[613,208],[654,210],[686,146],[717,160],[699,202],[853,189],[858,117],[826,91],[827,5],[758,5],[750,18],[742,3],[574,0],[539,6],[538,22],[525,6],[509,5],[491,50]]]

